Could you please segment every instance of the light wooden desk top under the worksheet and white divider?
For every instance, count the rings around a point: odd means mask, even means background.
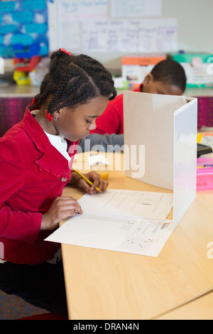
[[[163,191],[115,171],[109,188]],[[212,203],[213,192],[197,194],[157,258],[62,244],[70,319],[151,319],[212,291]]]

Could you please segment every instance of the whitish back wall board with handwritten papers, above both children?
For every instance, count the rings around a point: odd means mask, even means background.
[[[111,70],[129,53],[212,53],[212,0],[48,0],[50,50]]]

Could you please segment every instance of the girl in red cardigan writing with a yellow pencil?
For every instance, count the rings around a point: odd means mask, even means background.
[[[0,289],[65,317],[60,244],[44,239],[60,220],[82,214],[77,200],[61,196],[67,183],[90,194],[107,188],[97,173],[86,175],[89,187],[77,173],[71,177],[71,168],[78,140],[114,97],[102,64],[60,49],[23,120],[0,139]]]

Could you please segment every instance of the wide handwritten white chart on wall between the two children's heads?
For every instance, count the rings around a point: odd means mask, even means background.
[[[175,52],[177,45],[176,18],[101,20],[82,26],[84,53],[165,53]]]

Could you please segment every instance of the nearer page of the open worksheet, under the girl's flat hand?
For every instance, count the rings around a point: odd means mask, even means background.
[[[84,214],[67,220],[46,240],[157,257],[172,232],[170,220]]]

